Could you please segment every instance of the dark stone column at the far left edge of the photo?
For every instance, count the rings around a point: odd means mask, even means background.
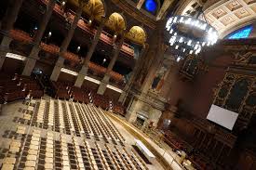
[[[23,0],[14,0],[14,2],[10,2],[12,6],[8,7],[7,13],[2,21],[2,30],[6,34],[4,35],[0,46],[0,70],[2,70],[7,52],[9,51],[9,45],[12,41],[12,38],[8,35],[8,33],[13,28],[13,25],[17,20],[22,2]]]

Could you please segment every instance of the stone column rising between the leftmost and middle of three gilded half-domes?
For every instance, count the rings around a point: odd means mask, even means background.
[[[106,18],[103,18],[101,20],[101,25],[100,27],[97,29],[97,32],[94,36],[94,39],[92,41],[92,44],[91,46],[89,47],[89,50],[88,50],[88,54],[87,54],[87,58],[85,59],[84,61],[84,65],[81,69],[81,71],[79,72],[77,78],[76,78],[76,81],[74,83],[74,86],[77,86],[77,87],[81,87],[83,85],[83,82],[85,80],[85,76],[88,74],[88,64],[89,64],[89,60],[91,59],[94,51],[95,51],[95,48],[96,46],[98,45],[98,42],[101,38],[101,33],[103,31],[103,28],[104,28],[104,25],[105,25],[105,22],[106,22]]]

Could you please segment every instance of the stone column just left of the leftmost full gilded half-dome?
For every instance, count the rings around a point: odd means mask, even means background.
[[[78,7],[78,9],[75,13],[74,20],[72,22],[71,28],[69,29],[69,32],[67,33],[67,36],[65,37],[64,41],[61,44],[59,59],[56,62],[55,67],[54,67],[54,69],[51,73],[51,76],[50,76],[50,80],[52,80],[52,81],[56,82],[59,78],[59,75],[61,73],[61,68],[63,67],[64,60],[65,60],[65,59],[62,58],[62,56],[67,51],[67,48],[68,48],[68,46],[71,42],[71,39],[74,35],[74,30],[77,26],[77,22],[78,22],[78,20],[80,20],[80,17],[82,15],[82,12],[83,12],[83,7]]]

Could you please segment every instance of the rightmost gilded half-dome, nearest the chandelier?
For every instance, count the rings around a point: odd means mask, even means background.
[[[146,42],[146,33],[141,27],[133,26],[127,33],[127,38],[142,45]]]

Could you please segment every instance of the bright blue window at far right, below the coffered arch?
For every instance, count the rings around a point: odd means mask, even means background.
[[[230,33],[226,36],[225,39],[242,39],[242,38],[248,38],[249,33],[251,33],[253,27],[252,25],[248,25],[246,27],[243,27],[239,30],[236,30],[233,33]]]

